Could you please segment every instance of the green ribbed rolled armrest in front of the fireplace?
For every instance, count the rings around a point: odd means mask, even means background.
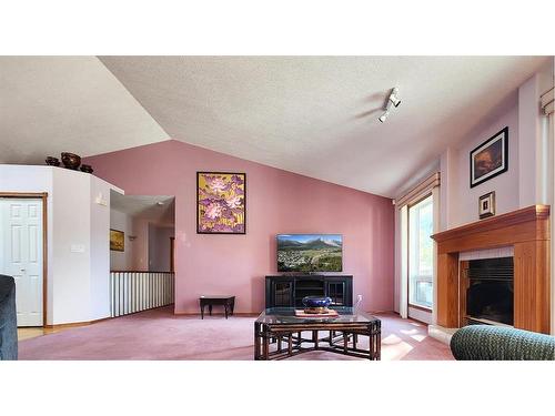
[[[492,325],[468,325],[453,334],[455,359],[551,359],[555,337],[529,331]]]

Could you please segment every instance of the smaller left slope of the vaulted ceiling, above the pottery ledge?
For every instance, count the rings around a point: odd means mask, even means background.
[[[0,163],[168,139],[95,57],[0,57]]]

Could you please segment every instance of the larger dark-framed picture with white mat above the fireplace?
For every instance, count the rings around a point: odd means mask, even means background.
[[[471,187],[508,169],[508,126],[471,151]]]

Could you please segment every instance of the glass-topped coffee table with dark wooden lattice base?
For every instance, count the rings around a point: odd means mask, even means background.
[[[353,307],[333,308],[339,316],[324,318],[297,317],[294,307],[265,310],[254,322],[254,359],[283,359],[315,349],[380,359],[381,321]],[[303,337],[303,332],[312,337]],[[321,332],[325,336],[320,337]],[[369,337],[367,348],[357,344],[359,336]]]

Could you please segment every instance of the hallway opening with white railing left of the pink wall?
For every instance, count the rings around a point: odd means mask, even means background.
[[[112,192],[110,205],[111,316],[173,304],[174,196]]]

